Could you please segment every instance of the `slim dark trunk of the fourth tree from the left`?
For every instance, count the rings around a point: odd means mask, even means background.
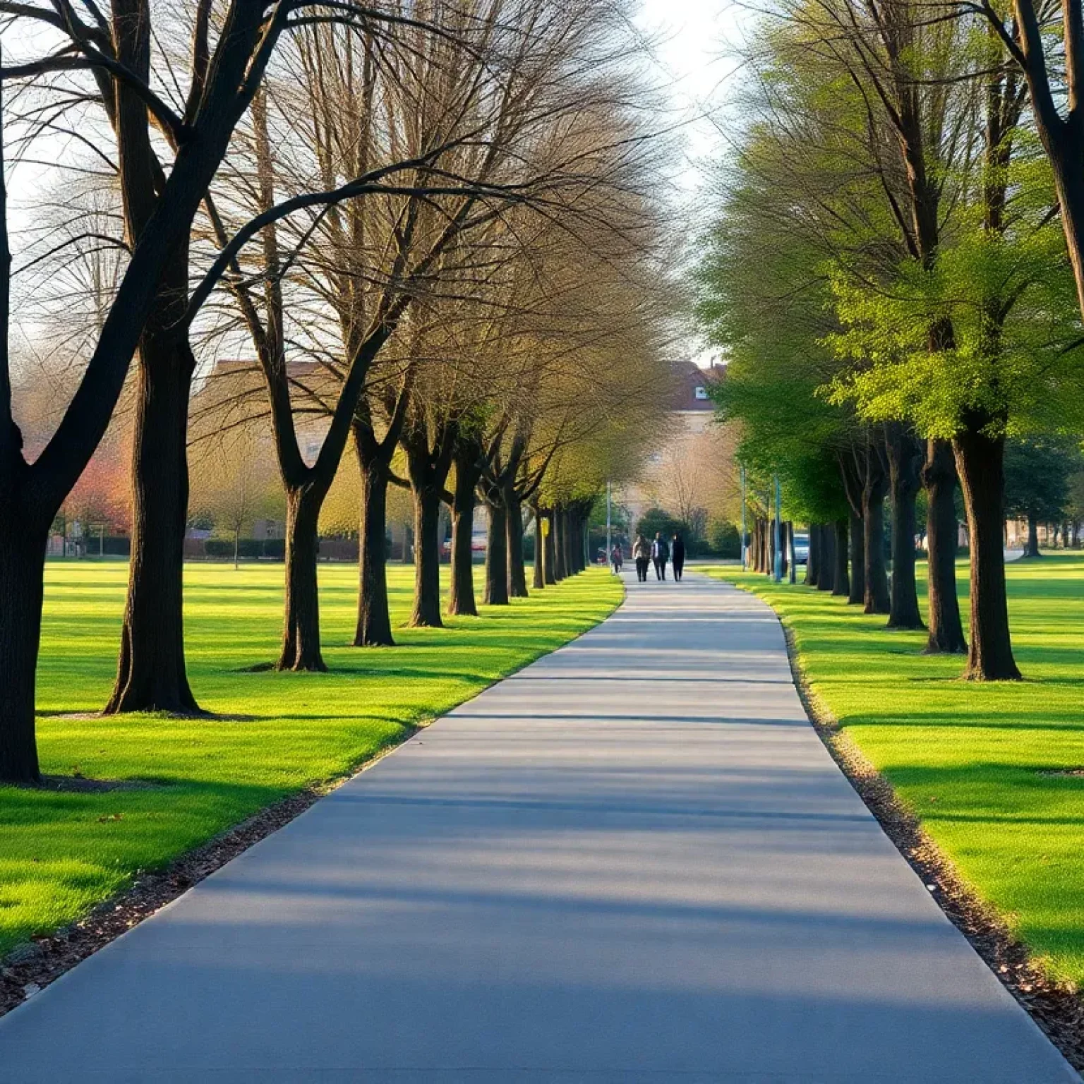
[[[388,469],[379,453],[354,440],[361,508],[358,530],[358,624],[354,647],[393,647],[388,605]]]

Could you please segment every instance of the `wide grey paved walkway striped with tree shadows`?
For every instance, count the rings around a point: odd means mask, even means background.
[[[805,721],[779,625],[629,582],[0,1021],[0,1081],[1079,1081]]]

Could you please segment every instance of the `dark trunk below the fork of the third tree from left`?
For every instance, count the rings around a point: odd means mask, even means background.
[[[286,617],[276,670],[327,669],[320,651],[317,557],[322,495],[311,489],[286,493]]]

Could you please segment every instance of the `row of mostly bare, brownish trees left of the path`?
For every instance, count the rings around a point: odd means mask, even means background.
[[[359,646],[393,642],[389,485],[414,504],[414,624],[441,624],[441,501],[450,612],[476,608],[479,495],[487,601],[527,590],[525,504],[553,525],[535,586],[579,566],[588,508],[630,467],[660,372],[648,198],[660,152],[636,108],[647,100],[625,15],[609,0],[0,0],[27,43],[0,69],[16,88],[5,133],[25,157],[53,153],[66,201],[94,209],[51,221],[21,270],[41,283],[79,261],[96,269],[76,333],[70,298],[21,291],[2,246],[0,779],[38,778],[46,539],[118,401],[130,404],[132,555],[107,712],[201,710],[181,590],[191,442],[230,456],[244,434],[275,464],[283,670],[324,668],[318,532],[348,449]],[[14,356],[12,300],[75,344],[74,390],[37,447],[17,421],[20,380],[34,375]]]

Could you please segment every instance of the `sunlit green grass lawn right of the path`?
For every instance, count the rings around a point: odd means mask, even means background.
[[[1084,559],[1008,566],[1028,680],[989,685],[840,598],[705,570],[775,607],[824,707],[1049,970],[1084,984],[1084,774],[1049,774],[1084,770]],[[966,617],[966,566],[958,577]]]

